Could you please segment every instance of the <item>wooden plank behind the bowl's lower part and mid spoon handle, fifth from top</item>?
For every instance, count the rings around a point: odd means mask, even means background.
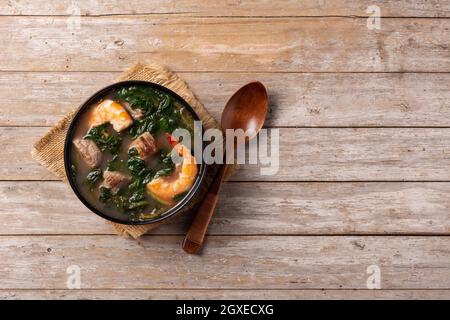
[[[114,234],[63,182],[0,182],[0,199],[0,234]],[[450,183],[228,183],[208,233],[449,234],[449,199]]]

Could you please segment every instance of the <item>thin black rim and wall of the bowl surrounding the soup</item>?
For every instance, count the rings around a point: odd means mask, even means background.
[[[76,185],[74,179],[72,178],[72,175],[70,174],[70,167],[71,167],[71,155],[72,155],[72,139],[73,134],[75,131],[75,128],[78,124],[78,120],[80,119],[80,116],[87,110],[89,106],[91,106],[93,103],[96,103],[100,101],[101,98],[103,98],[107,93],[109,93],[112,90],[119,89],[123,86],[133,86],[133,85],[140,85],[140,86],[149,86],[161,91],[164,91],[168,95],[176,98],[182,105],[185,107],[191,114],[194,120],[200,121],[199,116],[195,113],[195,111],[192,109],[192,107],[179,95],[177,95],[175,92],[160,86],[153,82],[148,81],[137,81],[137,80],[129,80],[129,81],[122,81],[115,84],[112,84],[110,86],[107,86],[97,93],[95,93],[93,96],[91,96],[85,103],[81,105],[81,107],[78,109],[77,113],[75,114],[72,122],[70,123],[69,129],[67,131],[66,135],[66,141],[64,143],[64,166],[66,170],[66,176],[69,180],[70,186],[73,189],[73,192],[77,195],[78,199],[92,212],[99,215],[100,217],[107,219],[109,221],[121,223],[121,224],[127,224],[127,225],[144,225],[144,224],[152,224],[156,223],[162,220],[169,219],[170,217],[173,217],[177,213],[181,211],[188,203],[189,201],[194,197],[194,195],[199,192],[199,188],[203,182],[203,179],[205,177],[206,173],[206,164],[204,162],[200,163],[200,169],[197,175],[197,179],[195,180],[193,186],[189,190],[189,192],[186,194],[186,196],[178,202],[174,207],[170,208],[169,210],[165,211],[161,216],[154,218],[154,219],[148,219],[148,220],[138,220],[138,221],[130,221],[126,219],[118,219],[116,217],[111,217],[105,213],[103,213],[101,210],[98,210],[95,206],[93,206],[88,200],[84,198],[82,193],[78,190],[78,186]],[[203,128],[202,128],[203,129]],[[204,146],[202,146],[204,147]]]

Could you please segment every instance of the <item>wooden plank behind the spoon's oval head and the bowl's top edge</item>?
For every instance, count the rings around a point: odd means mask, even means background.
[[[0,125],[53,125],[118,76],[117,72],[0,72],[3,104],[14,106],[2,110]],[[217,119],[233,92],[257,79],[269,90],[268,127],[449,125],[450,74],[445,73],[181,73],[181,77]]]

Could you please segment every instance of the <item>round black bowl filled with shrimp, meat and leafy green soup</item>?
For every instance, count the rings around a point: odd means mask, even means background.
[[[64,164],[78,198],[93,212],[123,224],[167,219],[198,192],[205,164],[192,141],[197,114],[180,96],[160,85],[124,81],[106,87],[75,114]],[[187,143],[189,142],[189,143]]]

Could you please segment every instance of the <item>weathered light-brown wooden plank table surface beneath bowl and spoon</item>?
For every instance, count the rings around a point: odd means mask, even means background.
[[[450,298],[448,0],[72,3],[0,2],[0,298]],[[180,248],[192,217],[118,237],[31,159],[137,61],[216,117],[269,88],[279,172],[233,177],[201,256]]]

